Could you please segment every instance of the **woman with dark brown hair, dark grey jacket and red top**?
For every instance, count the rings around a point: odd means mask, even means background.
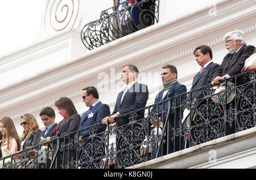
[[[73,138],[80,123],[80,115],[77,114],[75,105],[68,97],[61,97],[55,102],[59,114],[63,119],[55,128],[55,135],[46,138],[46,141],[60,138],[60,150],[57,156],[57,168],[70,168],[68,163],[76,160],[76,147],[73,145]],[[63,147],[65,146],[65,147]]]

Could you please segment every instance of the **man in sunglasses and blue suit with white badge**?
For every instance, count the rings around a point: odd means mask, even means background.
[[[84,144],[81,151],[83,158],[80,158],[80,163],[82,168],[101,168],[99,162],[105,155],[105,140],[102,138],[104,134],[101,132],[106,130],[106,125],[102,124],[101,120],[110,115],[109,105],[102,104],[98,100],[98,91],[93,86],[82,89],[82,98],[89,110],[82,114],[81,122],[77,128],[77,130],[85,129],[79,131],[79,140]],[[86,128],[90,126],[92,127]]]

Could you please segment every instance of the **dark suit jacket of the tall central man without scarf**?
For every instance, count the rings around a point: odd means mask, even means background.
[[[147,104],[148,100],[148,88],[146,84],[140,84],[135,82],[129,90],[125,93],[123,100],[121,102],[123,91],[119,92],[117,96],[117,101],[115,102],[114,111],[112,113],[115,114],[119,112],[121,115],[133,112],[134,110],[138,110],[144,108]],[[144,118],[144,110],[141,110],[137,113],[137,119]],[[118,118],[117,119],[117,127],[127,125],[129,123],[128,117]]]

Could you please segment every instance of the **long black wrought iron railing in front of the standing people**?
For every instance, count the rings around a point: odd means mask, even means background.
[[[0,166],[23,169],[126,168],[246,130],[256,124],[255,78],[255,72],[246,72],[225,79],[223,91],[217,92],[209,84],[171,97],[118,117],[128,118],[127,125],[117,126],[114,123],[108,125],[106,131],[100,132],[97,127],[102,124],[98,123],[3,157]],[[237,83],[241,80],[242,84]],[[204,96],[196,101],[191,100],[193,93],[197,92]],[[185,109],[189,109],[189,113],[183,117]],[[145,112],[144,118],[138,118],[141,111]],[[152,119],[159,117],[163,119],[162,126],[152,127]],[[79,140],[76,137],[82,131],[87,131],[88,136]],[[110,142],[110,136],[115,137],[114,142]]]

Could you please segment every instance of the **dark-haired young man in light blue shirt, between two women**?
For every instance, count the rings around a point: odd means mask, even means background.
[[[41,138],[45,139],[47,137],[53,136],[55,133],[55,128],[57,126],[57,123],[55,122],[55,112],[51,107],[46,107],[42,109],[39,115],[40,115],[40,118],[42,119],[44,130],[39,135],[38,144],[42,140]],[[52,150],[52,149],[47,149],[48,148],[47,145],[44,146],[44,148],[46,148],[47,152]],[[44,153],[42,148],[40,150],[41,150],[40,151],[41,153]],[[42,156],[42,159],[40,159],[40,162],[42,163],[39,163],[39,168],[45,169],[51,166],[52,161],[51,159],[47,158],[47,163],[46,163],[46,158]]]

